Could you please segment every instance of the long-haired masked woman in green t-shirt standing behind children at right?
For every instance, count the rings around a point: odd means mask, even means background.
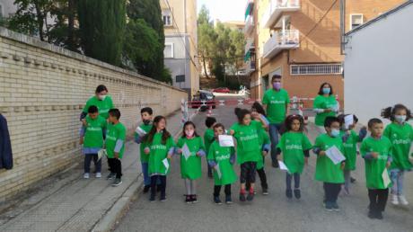
[[[313,111],[315,115],[315,125],[319,133],[325,133],[324,120],[327,117],[335,117],[338,113],[339,105],[333,93],[330,83],[323,83],[320,86],[319,94],[314,99]]]

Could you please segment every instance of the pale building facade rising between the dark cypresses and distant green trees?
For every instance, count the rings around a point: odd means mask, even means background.
[[[165,32],[164,62],[173,86],[188,92],[199,89],[196,0],[160,0]]]

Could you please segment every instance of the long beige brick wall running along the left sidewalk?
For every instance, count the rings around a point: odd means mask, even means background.
[[[106,85],[129,134],[139,109],[166,115],[186,92],[101,61],[0,28],[0,112],[12,138],[12,170],[0,170],[0,202],[79,159],[79,114]]]

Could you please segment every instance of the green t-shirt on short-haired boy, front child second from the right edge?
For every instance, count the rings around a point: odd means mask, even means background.
[[[368,189],[387,189],[389,187],[384,186],[382,173],[386,168],[389,156],[391,156],[391,147],[391,141],[384,136],[380,139],[369,137],[363,140],[360,147],[360,153],[363,157],[369,152],[379,154],[377,159],[365,159],[365,183]]]

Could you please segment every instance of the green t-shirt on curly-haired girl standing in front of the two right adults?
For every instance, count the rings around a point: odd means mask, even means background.
[[[303,132],[289,131],[283,134],[277,145],[281,149],[284,163],[290,174],[302,174],[304,151],[312,148],[312,143]]]

